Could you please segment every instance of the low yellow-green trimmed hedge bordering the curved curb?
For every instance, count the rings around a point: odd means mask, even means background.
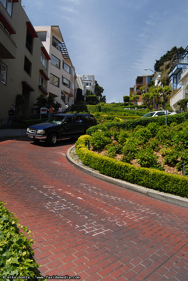
[[[89,139],[89,135],[83,135],[75,145],[76,153],[85,165],[111,178],[188,198],[188,178],[155,169],[136,167],[89,151],[86,148]]]

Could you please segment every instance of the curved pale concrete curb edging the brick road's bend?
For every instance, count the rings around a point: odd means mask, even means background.
[[[175,196],[172,194],[166,194],[163,192],[158,192],[156,190],[153,189],[149,189],[149,188],[145,188],[142,186],[138,186],[136,184],[132,184],[132,183],[128,183],[119,179],[115,179],[115,178],[110,178],[108,176],[102,175],[100,174],[98,171],[95,171],[93,169],[91,169],[90,167],[85,166],[80,158],[79,158],[79,162],[75,161],[71,156],[70,156],[70,152],[71,150],[74,148],[75,146],[71,146],[67,152],[66,152],[66,159],[68,162],[70,162],[70,164],[72,164],[74,167],[76,167],[77,169],[81,170],[82,172],[85,172],[93,177],[99,178],[103,181],[106,181],[107,183],[112,183],[118,186],[121,186],[123,188],[127,188],[130,189],[132,191],[136,191],[139,192],[141,194],[147,195],[149,197],[155,198],[155,199],[159,199],[168,203],[172,203],[175,205],[179,205],[182,207],[186,207],[188,208],[188,199],[186,198],[182,198],[179,196]]]

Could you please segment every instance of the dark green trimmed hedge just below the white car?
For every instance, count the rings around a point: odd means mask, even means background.
[[[180,113],[180,114],[173,114],[167,115],[167,125],[170,125],[172,122],[176,122],[177,124],[183,123],[188,119],[188,113]],[[111,127],[116,127],[118,129],[124,130],[131,130],[136,128],[136,126],[147,126],[149,123],[158,123],[159,126],[165,125],[165,116],[158,116],[158,117],[149,117],[149,118],[140,118],[138,120],[130,120],[125,122],[111,122],[105,124],[105,126],[110,129]],[[92,132],[99,130],[101,125],[90,127],[87,130],[87,134],[91,135]]]

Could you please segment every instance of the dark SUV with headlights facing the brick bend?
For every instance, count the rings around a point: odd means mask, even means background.
[[[27,128],[27,135],[35,142],[47,141],[55,145],[57,140],[85,135],[86,130],[95,125],[97,121],[92,114],[55,114],[45,123]]]

